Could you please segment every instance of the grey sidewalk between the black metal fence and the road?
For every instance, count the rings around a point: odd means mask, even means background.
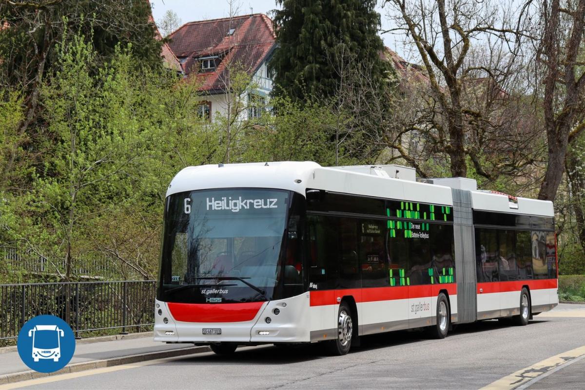
[[[75,354],[67,367],[58,372],[89,370],[98,366],[107,367],[209,350],[208,347],[195,347],[192,344],[154,342],[152,337],[152,332],[148,332],[129,335],[119,340],[112,340],[112,337],[81,340],[75,346]],[[0,384],[44,375],[46,374],[39,374],[26,367],[15,348],[0,349]]]

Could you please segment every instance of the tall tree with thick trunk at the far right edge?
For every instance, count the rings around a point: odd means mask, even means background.
[[[548,141],[548,165],[538,199],[554,200],[567,145],[585,128],[585,71],[579,58],[585,34],[585,0],[542,2],[538,16],[535,32],[542,38],[536,63]]]

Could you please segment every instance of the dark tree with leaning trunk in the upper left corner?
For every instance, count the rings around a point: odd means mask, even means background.
[[[136,64],[160,67],[162,42],[150,22],[150,4],[144,0],[0,0],[0,86],[2,91],[22,93],[23,118],[15,144],[2,170],[6,185],[20,147],[34,150],[40,128],[32,126],[39,114],[39,93],[47,75],[54,73],[54,48],[63,34],[80,33],[92,38],[99,62],[106,62],[118,44],[132,44]],[[4,95],[4,94],[2,94]],[[7,96],[0,96],[5,100]],[[34,128],[34,131],[31,130]]]

